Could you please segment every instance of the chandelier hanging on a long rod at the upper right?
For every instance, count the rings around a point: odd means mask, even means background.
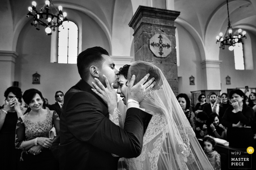
[[[233,32],[233,28],[230,24],[230,20],[229,20],[229,3],[227,0],[227,18],[228,18],[228,26],[227,26],[227,30],[225,32],[225,34],[223,35],[223,33],[219,33],[219,36],[216,37],[217,41],[216,44],[218,42],[221,42],[219,48],[225,49],[225,45],[229,46],[229,50],[232,51],[234,50],[234,46],[240,46],[240,44],[244,44],[242,41],[242,38],[246,38],[245,36],[245,31],[242,32],[242,29],[238,29],[238,33],[234,33]]]

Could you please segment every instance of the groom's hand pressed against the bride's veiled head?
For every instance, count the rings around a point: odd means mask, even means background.
[[[133,100],[136,100],[138,103],[140,103],[144,99],[144,97],[146,97],[146,95],[155,86],[155,81],[154,81],[155,78],[153,77],[147,81],[148,77],[149,77],[149,74],[144,76],[143,79],[141,79],[135,86],[133,86],[135,82],[135,75],[132,75],[131,81],[129,82],[128,88],[127,88],[128,100],[133,99]]]

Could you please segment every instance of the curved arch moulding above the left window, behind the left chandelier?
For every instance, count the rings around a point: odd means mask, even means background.
[[[108,29],[107,25],[95,13],[93,13],[92,11],[90,11],[87,8],[81,7],[79,5],[70,4],[70,3],[55,2],[54,5],[55,6],[61,5],[63,8],[75,9],[77,11],[83,12],[86,15],[90,16],[93,20],[96,21],[96,23],[105,32],[106,37],[108,38],[109,47],[110,47],[110,50],[111,50],[111,47],[112,47],[112,39],[111,39],[112,35],[111,35],[111,32]],[[43,4],[38,4],[38,6],[43,6]],[[25,26],[25,24],[28,23],[28,21],[30,19],[31,18],[27,18],[26,16],[24,16],[16,24],[16,26],[14,28],[14,39],[13,39],[13,43],[12,43],[13,44],[13,46],[12,46],[13,51],[16,51],[18,37],[19,37],[19,34],[20,34],[22,28]],[[112,53],[112,51],[110,53]]]

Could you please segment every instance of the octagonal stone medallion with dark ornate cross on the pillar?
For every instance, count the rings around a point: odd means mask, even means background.
[[[167,57],[167,55],[170,54],[170,52],[172,52],[172,48],[170,46],[171,43],[172,42],[168,39],[166,35],[156,33],[150,38],[149,47],[155,56],[165,58]]]

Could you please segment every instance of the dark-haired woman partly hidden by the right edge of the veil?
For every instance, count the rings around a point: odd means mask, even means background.
[[[188,98],[187,94],[181,93],[177,97],[178,102],[180,103],[180,106],[186,115],[189,123],[191,124],[191,127],[193,128],[195,126],[195,114],[193,111],[190,111],[188,108],[190,107],[190,100]]]

